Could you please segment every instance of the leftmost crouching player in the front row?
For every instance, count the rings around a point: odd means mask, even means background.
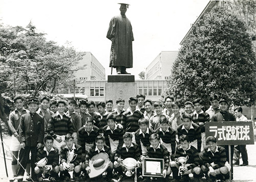
[[[36,162],[41,159],[47,158],[47,166],[50,167],[50,171],[45,167],[35,167],[35,173],[37,174],[38,181],[43,181],[42,174],[50,173],[50,181],[57,181],[59,176],[59,151],[57,148],[53,148],[53,138],[48,135],[45,137],[45,146],[37,150]]]

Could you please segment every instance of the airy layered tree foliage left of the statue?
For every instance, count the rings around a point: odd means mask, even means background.
[[[0,27],[0,89],[13,94],[54,93],[73,79],[82,54],[69,44],[47,41],[30,22],[22,27]],[[63,84],[66,83],[67,85]]]

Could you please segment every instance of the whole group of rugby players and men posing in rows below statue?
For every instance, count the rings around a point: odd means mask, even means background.
[[[217,146],[214,137],[205,139],[205,122],[245,120],[242,108],[235,109],[236,118],[228,112],[228,101],[217,95],[210,96],[211,106],[206,112],[200,98],[186,101],[183,113],[172,96],[167,96],[164,103],[153,103],[138,94],[128,102],[129,108],[124,110],[122,98],[116,100],[115,109],[113,100],[98,103],[80,100],[77,113],[75,99],[68,100],[68,105],[63,100],[50,103],[47,97],[40,101],[29,99],[26,110],[24,99],[15,97],[16,109],[9,116],[14,175],[10,181],[21,180],[18,177],[23,177],[25,170],[30,174],[30,165],[34,181],[45,177],[50,181],[69,181],[71,171],[75,181],[88,179],[92,171],[89,162],[100,152],[109,156],[104,176],[107,181],[113,176],[123,180],[126,158],[137,161],[138,180],[152,180],[141,176],[144,158],[164,159],[160,178],[164,181],[168,181],[171,173],[174,181],[189,181],[189,173],[198,181],[202,177],[209,181],[229,179],[232,164],[227,162],[228,147]],[[243,165],[248,165],[245,146],[237,148],[242,153]],[[176,163],[176,158],[186,156],[184,166]],[[46,165],[41,167],[44,159]]]

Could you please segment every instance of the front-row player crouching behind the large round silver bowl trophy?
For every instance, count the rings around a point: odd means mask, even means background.
[[[118,146],[115,154],[114,168],[119,173],[118,181],[123,178],[124,167],[120,164],[122,160],[126,158],[134,158],[137,161],[137,166],[141,166],[141,149],[136,143],[132,143],[133,135],[129,132],[125,132],[123,135],[123,145]]]

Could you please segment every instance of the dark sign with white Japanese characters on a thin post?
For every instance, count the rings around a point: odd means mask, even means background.
[[[253,145],[252,121],[218,121],[205,123],[205,137],[214,136],[218,145],[228,145],[229,164],[231,166],[231,145]],[[232,166],[231,166],[232,170]],[[229,171],[229,179],[231,172]]]

